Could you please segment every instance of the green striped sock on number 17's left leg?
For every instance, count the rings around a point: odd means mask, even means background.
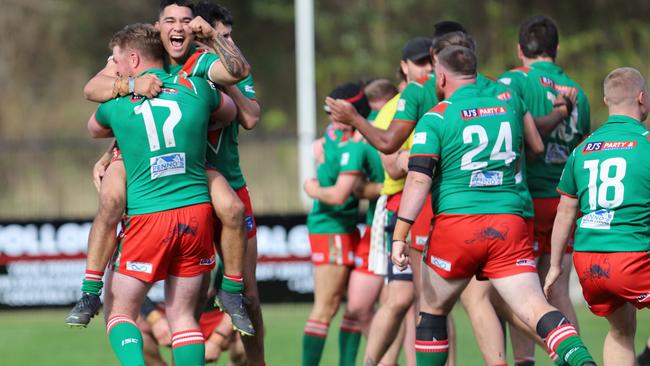
[[[126,315],[114,315],[108,319],[106,332],[111,348],[125,366],[144,366],[142,333],[135,322]]]

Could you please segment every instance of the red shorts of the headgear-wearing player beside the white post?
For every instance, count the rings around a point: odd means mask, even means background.
[[[359,231],[341,234],[309,234],[311,262],[354,266],[354,249],[359,243]]]

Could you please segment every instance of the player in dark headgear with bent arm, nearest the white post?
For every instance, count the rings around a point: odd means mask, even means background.
[[[331,96],[344,98],[364,116],[370,112],[361,85],[348,83],[335,88]],[[357,217],[359,200],[353,195],[355,186],[365,176],[382,181],[379,156],[367,144],[352,139],[349,126],[332,119],[325,137],[324,161],[318,166],[317,178],[305,182],[305,192],[314,198],[314,207],[307,217],[309,241],[314,269],[314,307],[305,325],[303,365],[320,362],[329,322],[345,293],[350,270],[355,266],[355,250],[359,245]],[[360,264],[366,264],[360,263]],[[376,287],[381,287],[377,281]],[[361,295],[361,294],[360,294]],[[369,310],[372,307],[368,307]],[[362,318],[370,318],[364,314]],[[341,325],[341,362],[354,363],[362,324],[358,319],[344,318]]]

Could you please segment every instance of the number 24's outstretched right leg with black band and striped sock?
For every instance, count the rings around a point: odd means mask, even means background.
[[[536,273],[490,279],[514,314],[570,365],[595,365],[574,326],[542,293]]]

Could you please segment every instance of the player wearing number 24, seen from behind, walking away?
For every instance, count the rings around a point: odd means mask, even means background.
[[[490,279],[564,362],[594,365],[573,326],[546,302],[539,285],[515,178],[524,143],[516,121],[523,109],[482,95],[476,57],[465,47],[447,47],[437,55],[436,88],[446,100],[416,127],[393,235],[393,262],[405,268],[405,239],[430,191],[437,217],[423,271],[418,364],[445,364],[446,316],[478,275]]]

